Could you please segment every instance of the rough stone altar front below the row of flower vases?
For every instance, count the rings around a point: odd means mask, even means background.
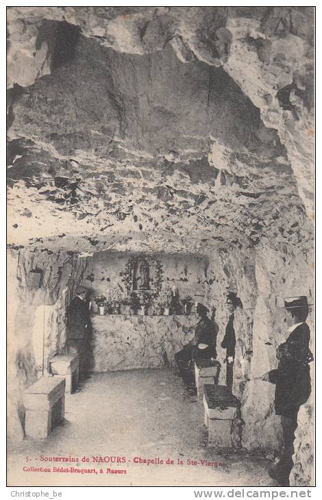
[[[92,316],[93,372],[174,366],[195,334],[197,316]]]

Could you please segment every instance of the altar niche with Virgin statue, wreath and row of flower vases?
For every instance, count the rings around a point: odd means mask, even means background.
[[[197,254],[99,252],[88,258],[82,285],[92,313],[189,315],[205,297],[208,259]]]

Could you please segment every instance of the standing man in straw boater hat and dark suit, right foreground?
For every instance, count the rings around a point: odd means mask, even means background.
[[[262,376],[265,382],[275,384],[275,413],[281,416],[283,451],[269,475],[281,486],[289,486],[293,467],[295,429],[299,407],[308,401],[311,392],[309,349],[310,329],[306,324],[308,300],[305,296],[284,299],[288,338],[277,348],[278,366]]]

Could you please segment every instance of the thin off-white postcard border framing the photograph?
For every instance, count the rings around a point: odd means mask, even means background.
[[[51,2],[39,2],[39,1],[31,1],[31,2],[8,2],[7,5],[3,5],[3,8],[1,8],[1,28],[3,31],[3,42],[0,45],[0,54],[1,54],[1,61],[2,61],[2,68],[3,68],[3,88],[5,88],[5,7],[6,6],[15,6],[15,5],[25,5],[25,6],[61,6],[61,5],[71,5],[71,6],[85,6],[86,3],[82,1],[71,1],[69,3],[62,3],[62,2],[57,2],[57,1],[51,1]],[[95,2],[95,5],[99,6],[104,6],[103,3],[101,2]],[[121,5],[119,3],[114,3],[114,5]],[[135,5],[133,2],[127,2],[127,5]],[[147,3],[143,3],[143,5],[147,5]],[[160,5],[160,3],[157,3],[156,5]],[[165,5],[170,5],[171,3],[166,3]],[[193,3],[189,2],[175,2],[173,5],[179,5],[179,6],[190,6],[193,5]],[[206,6],[212,5],[212,3],[206,2]],[[230,6],[230,5],[235,5],[234,3],[230,4],[225,4],[225,6]],[[267,3],[254,3],[254,2],[247,2],[247,3],[240,3],[238,5],[243,5],[243,6],[271,6],[267,5]],[[297,6],[297,5],[303,5],[303,2],[284,2],[284,5],[286,6]],[[321,73],[321,68],[319,64],[319,54],[321,53],[321,47],[322,47],[322,23],[321,18],[320,18],[320,8],[318,7],[316,10],[316,16],[317,16],[317,25],[316,25],[316,31],[317,31],[317,46],[316,46],[316,52],[317,52],[317,82],[321,82],[321,78],[319,78],[320,73]],[[319,97],[319,84],[317,84],[317,116],[319,117],[319,111],[321,111],[321,98]],[[1,194],[3,192],[3,195],[0,197],[0,205],[1,205],[1,210],[0,210],[0,225],[1,225],[1,232],[0,232],[0,269],[1,269],[1,275],[0,275],[0,282],[3,284],[3,286],[0,288],[0,304],[3,307],[2,314],[0,317],[5,318],[5,92],[3,90],[3,93],[1,92],[1,158],[3,159],[3,166],[0,168],[0,186],[1,186]],[[319,140],[319,128],[317,132],[317,193],[319,195],[320,188],[322,186],[321,182],[321,177],[322,177],[322,167],[320,166],[321,160],[322,160],[322,137],[321,140]],[[3,190],[3,191],[2,191]],[[316,245],[317,245],[317,325],[316,325],[316,332],[317,332],[317,378],[316,378],[316,390],[317,390],[317,450],[316,450],[316,457],[317,457],[317,465],[321,465],[321,460],[320,460],[320,455],[321,455],[321,399],[322,397],[320,396],[321,394],[321,388],[320,388],[320,381],[321,381],[321,371],[322,371],[322,363],[319,360],[320,355],[321,355],[321,336],[322,336],[322,328],[320,328],[320,325],[322,326],[322,321],[321,321],[321,310],[319,308],[319,290],[322,282],[322,266],[319,264],[319,250],[321,250],[321,245],[320,245],[320,231],[319,231],[319,219],[322,215],[322,210],[321,210],[321,203],[322,203],[322,197],[320,198],[317,196],[317,210],[316,210],[316,216],[317,216],[317,238],[316,238]],[[1,425],[1,454],[0,454],[0,492],[3,495],[3,498],[8,498],[12,499],[12,490],[17,490],[19,492],[23,490],[29,490],[29,491],[34,491],[34,492],[39,492],[40,490],[46,491],[48,490],[50,494],[53,491],[53,488],[12,488],[12,487],[6,487],[5,484],[5,321],[3,321],[3,327],[2,327],[2,345],[0,349],[0,366],[1,366],[1,378],[0,380],[3,381],[2,389],[3,389],[3,394],[1,395],[1,412],[0,412],[0,425]],[[318,467],[317,467],[318,470]],[[286,490],[288,493],[289,490],[297,490],[298,492],[300,490],[302,491],[308,491],[310,492],[310,498],[312,499],[317,499],[318,497],[320,498],[322,496],[322,477],[321,473],[317,472],[317,488],[266,488],[267,490]],[[214,485],[215,486],[215,485]],[[62,497],[63,499],[72,499],[72,498],[77,498],[77,500],[82,500],[82,499],[88,499],[88,497],[95,497],[95,499],[102,499],[106,500],[108,498],[112,499],[128,499],[129,497],[132,497],[134,499],[140,499],[140,500],[151,500],[151,497],[153,497],[153,500],[164,500],[164,497],[166,499],[175,499],[175,500],[189,500],[189,499],[194,499],[195,495],[193,494],[194,490],[210,490],[211,488],[204,488],[204,487],[184,487],[184,488],[175,488],[175,487],[169,487],[169,488],[163,488],[163,487],[145,487],[145,488],[54,488],[56,491],[62,492]],[[229,486],[226,488],[219,488],[223,489],[224,492],[227,492],[227,490],[231,490]],[[265,488],[235,488],[237,489],[244,489],[245,495],[247,495],[247,492],[255,492],[256,490],[264,490]],[[2,496],[1,495],[1,496]],[[51,495],[50,495],[51,496]],[[241,497],[239,497],[241,498]]]

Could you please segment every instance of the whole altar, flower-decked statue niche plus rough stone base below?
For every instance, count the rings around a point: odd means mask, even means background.
[[[90,370],[174,366],[195,335],[195,304],[205,297],[202,255],[101,252],[88,258]]]

